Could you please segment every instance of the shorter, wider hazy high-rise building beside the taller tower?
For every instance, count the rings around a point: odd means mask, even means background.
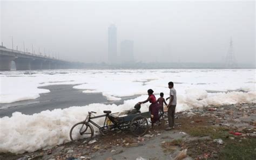
[[[124,40],[120,45],[120,55],[123,62],[133,62],[133,41]]]

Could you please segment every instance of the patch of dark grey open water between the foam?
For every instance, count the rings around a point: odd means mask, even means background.
[[[13,103],[0,103],[0,117],[11,116],[14,112],[32,115],[43,110],[56,108],[68,108],[71,106],[86,106],[91,103],[104,103],[120,105],[124,100],[133,99],[137,96],[123,97],[120,101],[107,101],[102,93],[83,93],[83,90],[74,89],[75,85],[52,85],[39,88],[49,89],[50,93],[40,94],[34,100],[24,100]]]

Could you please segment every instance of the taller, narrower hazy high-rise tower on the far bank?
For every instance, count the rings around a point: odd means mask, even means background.
[[[109,26],[109,63],[114,64],[117,62],[117,27],[115,25]]]

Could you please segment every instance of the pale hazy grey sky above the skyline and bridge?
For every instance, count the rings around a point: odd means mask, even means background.
[[[107,61],[107,27],[134,41],[134,59],[223,62],[230,38],[238,62],[255,63],[255,2],[19,1],[1,3],[1,41],[73,61]]]

